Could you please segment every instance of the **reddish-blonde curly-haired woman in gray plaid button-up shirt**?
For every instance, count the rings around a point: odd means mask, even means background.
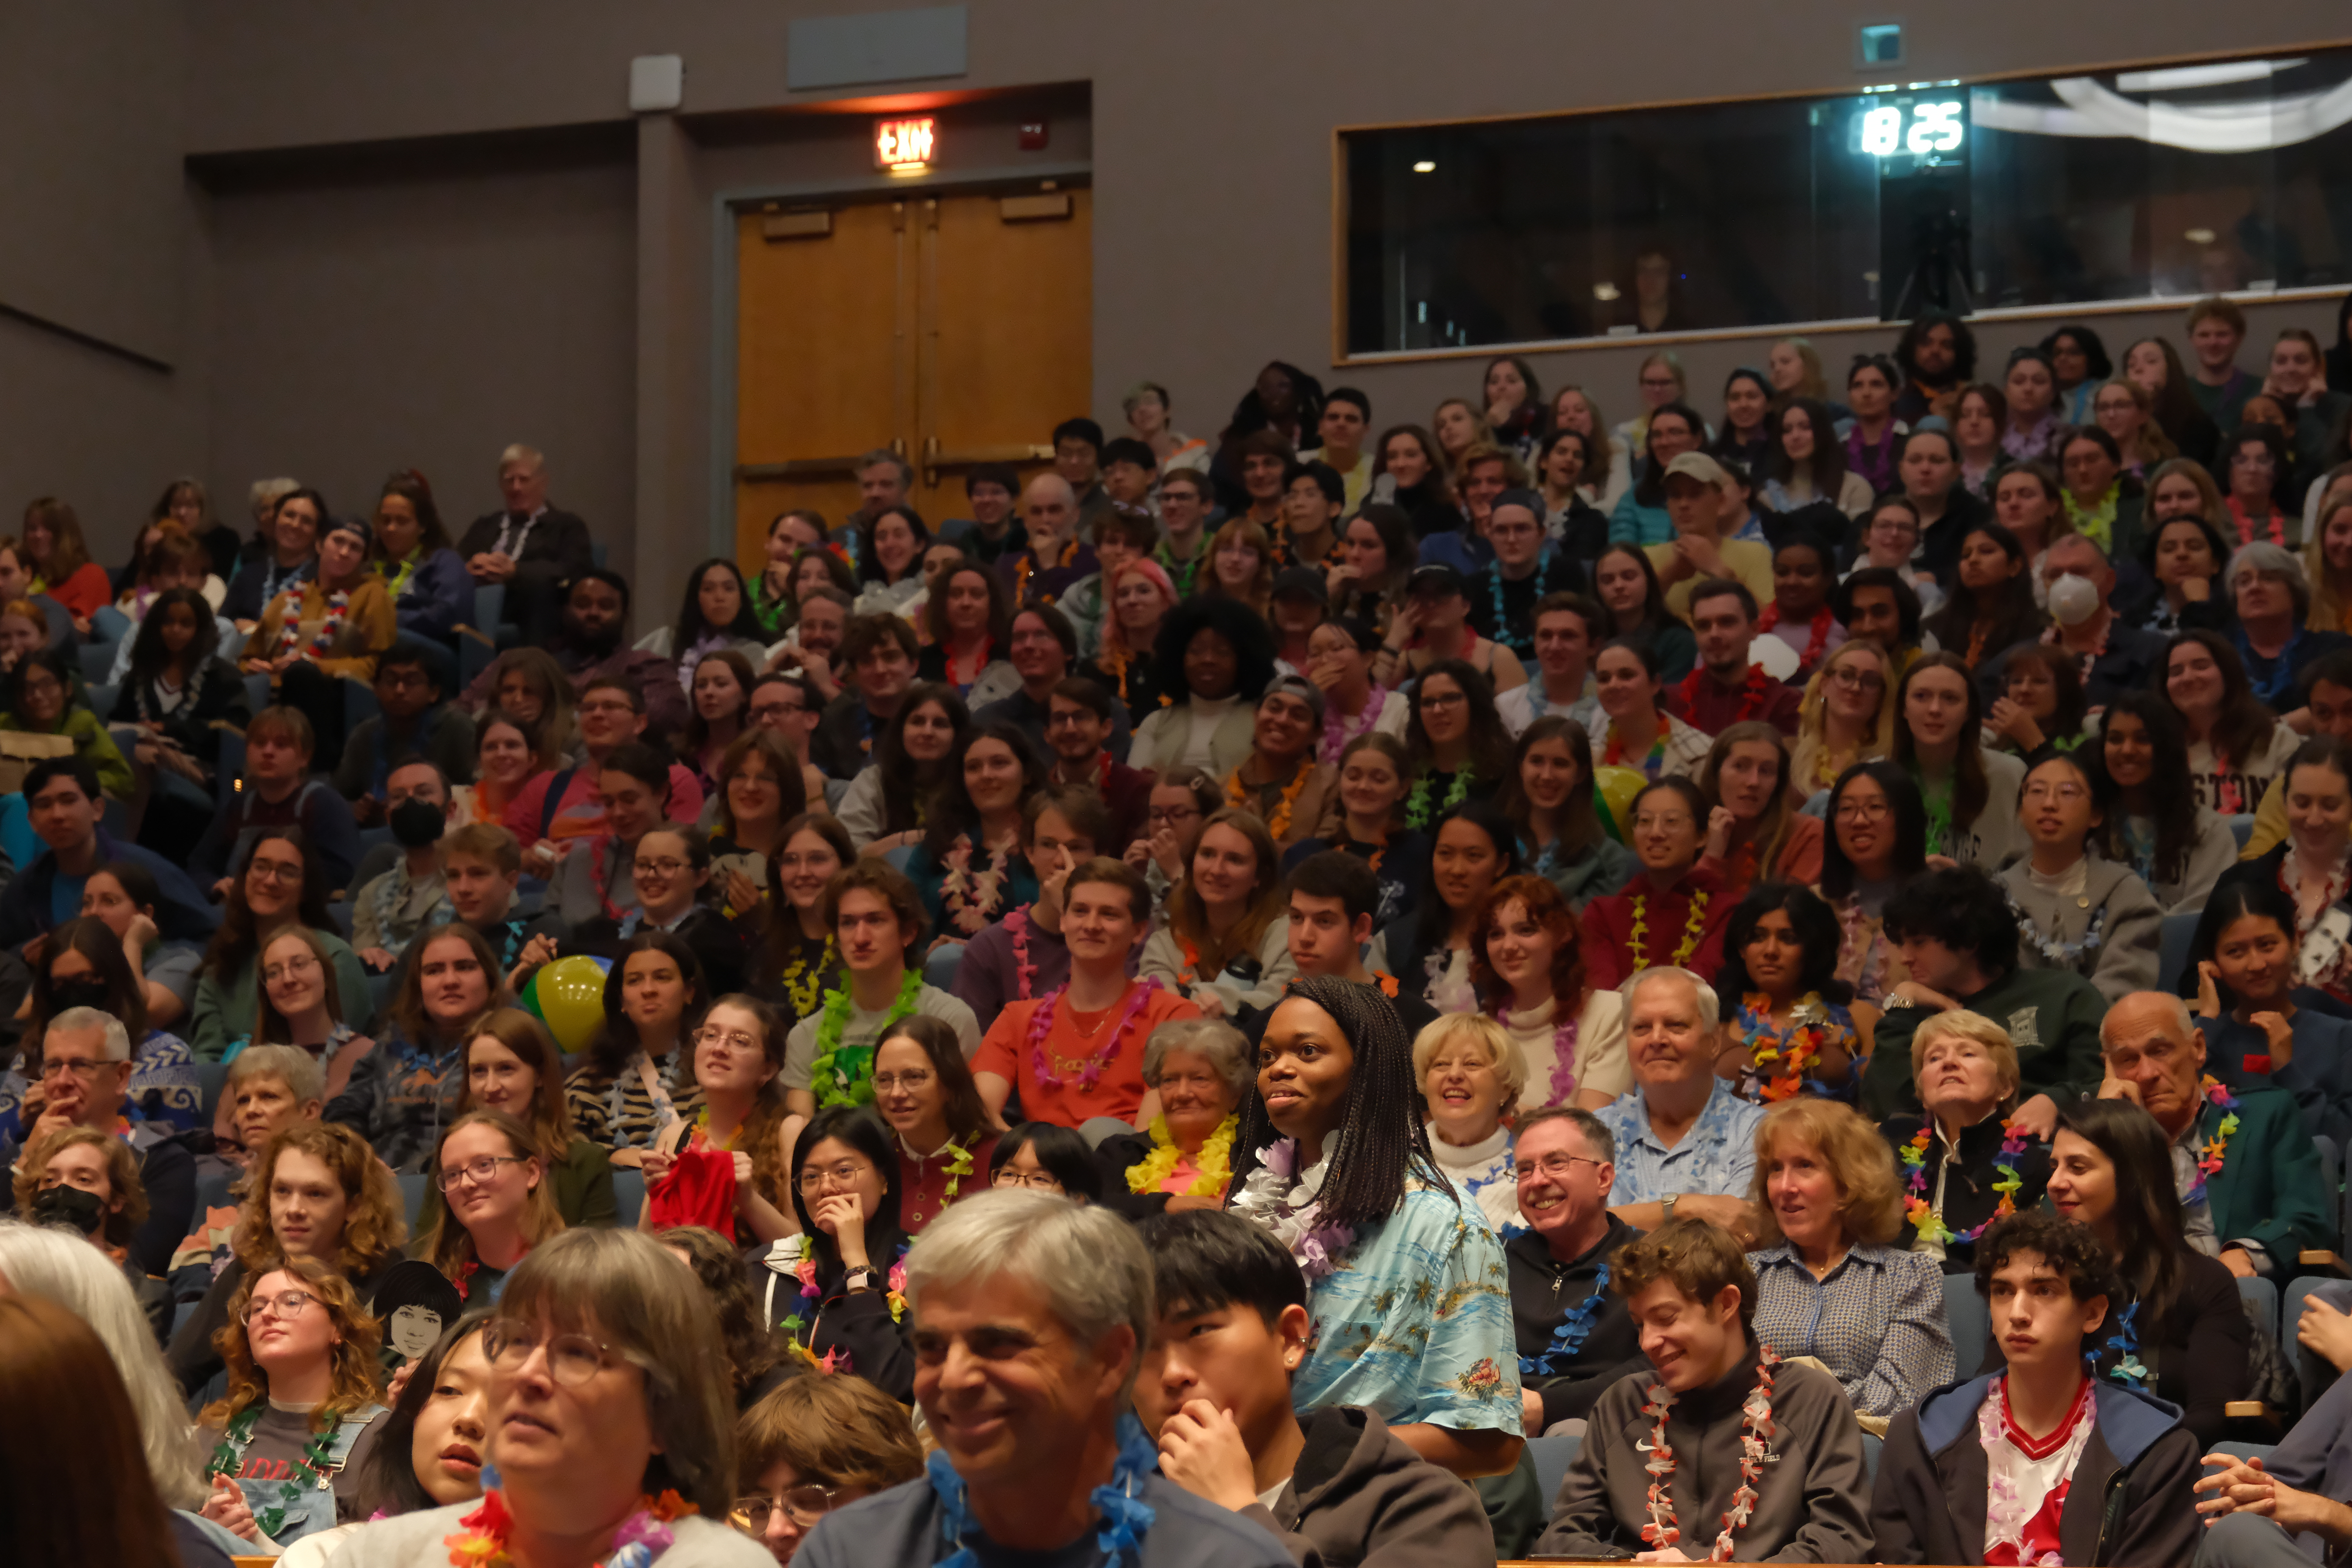
[[[1943,1272],[1905,1253],[1896,1157],[1837,1100],[1780,1100],[1757,1124],[1755,1333],[1783,1356],[1820,1356],[1853,1413],[1886,1418],[1952,1380]]]

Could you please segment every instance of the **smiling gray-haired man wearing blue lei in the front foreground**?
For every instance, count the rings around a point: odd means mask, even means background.
[[[1157,1321],[1152,1265],[1127,1220],[983,1192],[915,1239],[906,1298],[915,1403],[938,1453],[924,1479],[826,1514],[793,1561],[1289,1568],[1263,1528],[1160,1474],[1131,1410]]]

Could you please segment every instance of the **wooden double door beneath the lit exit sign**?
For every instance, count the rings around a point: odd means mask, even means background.
[[[736,216],[736,555],[779,512],[837,527],[856,458],[915,468],[931,524],[974,463],[1023,477],[1094,390],[1091,190],[903,195]]]

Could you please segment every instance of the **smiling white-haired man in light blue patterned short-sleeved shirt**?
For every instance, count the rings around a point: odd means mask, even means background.
[[[1656,966],[1625,980],[1623,994],[1635,1086],[1595,1112],[1616,1140],[1609,1213],[1635,1229],[1698,1218],[1752,1241],[1743,1194],[1764,1107],[1715,1072],[1715,987],[1689,969]]]

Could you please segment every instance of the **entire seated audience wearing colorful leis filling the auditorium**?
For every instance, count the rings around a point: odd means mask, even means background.
[[[1138,383],[661,625],[522,444],[33,503],[82,1556],[2340,1554],[2352,388],[2180,336]]]

